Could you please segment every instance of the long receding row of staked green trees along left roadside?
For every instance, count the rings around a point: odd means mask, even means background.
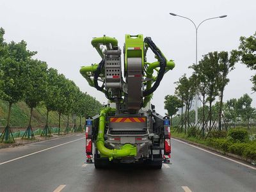
[[[99,101],[81,92],[76,84],[58,70],[48,68],[45,61],[33,58],[37,52],[29,51],[24,40],[6,42],[4,29],[0,28],[0,99],[8,102],[6,127],[1,141],[13,142],[10,128],[12,104],[24,101],[31,110],[28,128],[22,138],[33,138],[31,118],[33,109],[44,105],[47,109],[44,136],[51,136],[48,125],[49,111],[59,114],[59,134],[61,115],[93,116],[102,107]],[[81,121],[80,121],[81,122]],[[81,124],[81,123],[80,123]]]

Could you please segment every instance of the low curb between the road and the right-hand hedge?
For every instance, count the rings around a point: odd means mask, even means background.
[[[228,156],[228,157],[233,157],[235,159],[238,159],[238,160],[241,160],[241,161],[246,161],[247,163],[250,163],[250,164],[253,164],[255,165],[255,161],[253,161],[252,159],[246,159],[244,157],[241,157],[241,156],[237,156],[235,154],[231,154],[231,153],[228,153],[228,152],[224,152],[222,150],[218,150],[216,148],[212,148],[212,147],[209,147],[207,145],[203,145],[201,143],[195,143],[193,141],[189,141],[189,140],[186,140],[186,139],[183,139],[183,138],[177,138],[175,136],[172,136],[172,138],[175,138],[176,140],[180,140],[180,141],[185,141],[186,143],[189,143],[189,144],[192,144],[192,145],[195,145],[195,146],[198,146],[198,147],[202,147],[202,148],[205,148],[205,149],[208,149],[208,150],[211,150],[212,152],[216,152],[218,154],[221,154],[221,155],[224,155],[224,156]]]

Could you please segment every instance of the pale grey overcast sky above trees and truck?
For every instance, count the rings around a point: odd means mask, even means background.
[[[154,93],[153,104],[164,114],[164,95],[173,94],[174,82],[182,74],[191,75],[189,65],[195,63],[195,28],[189,20],[169,15],[170,12],[189,17],[199,24],[198,60],[210,51],[237,49],[240,36],[256,31],[255,1],[12,1],[0,0],[0,27],[6,31],[7,42],[26,40],[28,49],[38,51],[36,58],[72,79],[81,90],[100,102],[104,94],[88,86],[79,74],[83,65],[99,63],[100,56],[90,44],[94,36],[113,36],[123,47],[125,34],[151,36],[155,44],[176,67],[168,72]],[[152,54],[148,61],[155,61]],[[250,71],[238,63],[229,75],[224,100],[252,94]]]

